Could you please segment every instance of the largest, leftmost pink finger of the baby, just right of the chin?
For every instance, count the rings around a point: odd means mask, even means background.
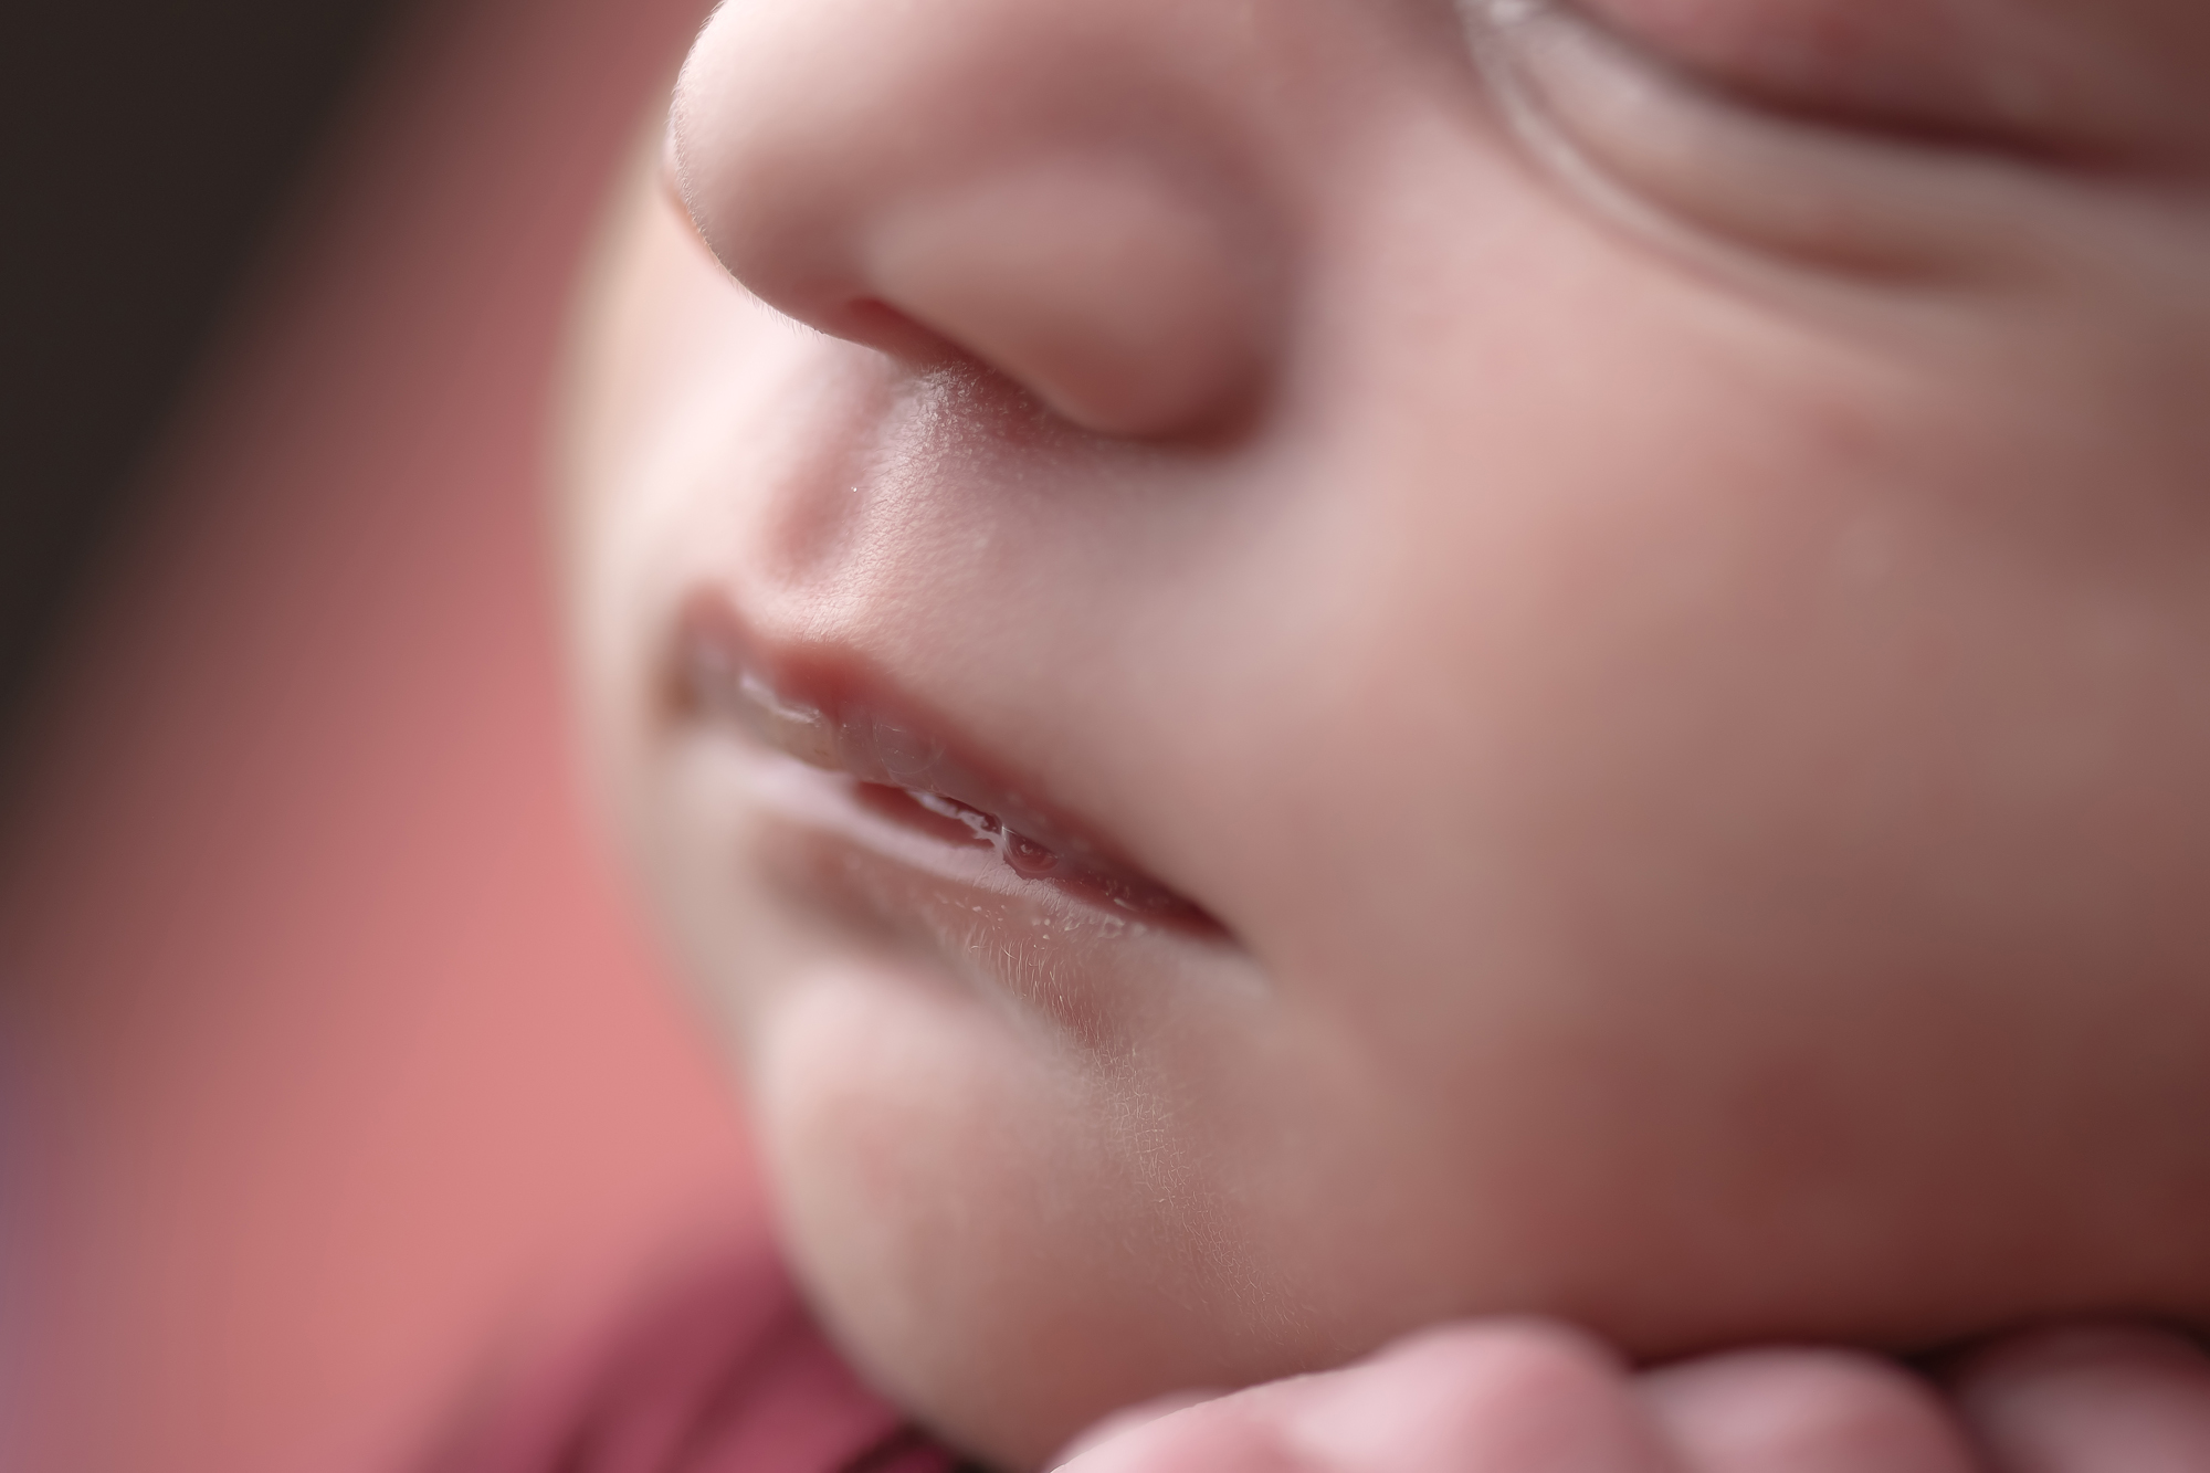
[[[1085,1444],[1065,1473],[1680,1473],[1593,1340],[1538,1323],[1428,1331]]]

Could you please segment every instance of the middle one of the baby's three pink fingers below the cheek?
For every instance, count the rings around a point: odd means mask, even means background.
[[[1962,1431],[1874,1356],[1777,1349],[1651,1371],[1642,1393],[1686,1473],[1974,1473]]]

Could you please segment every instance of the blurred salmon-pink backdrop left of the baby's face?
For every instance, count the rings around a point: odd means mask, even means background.
[[[11,1471],[387,1469],[758,1247],[579,814],[539,509],[698,9],[418,15],[155,473],[0,856]]]

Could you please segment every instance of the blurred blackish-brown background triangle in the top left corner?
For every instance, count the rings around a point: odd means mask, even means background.
[[[396,9],[0,4],[0,748]]]

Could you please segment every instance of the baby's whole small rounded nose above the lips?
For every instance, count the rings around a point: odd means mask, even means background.
[[[734,0],[676,88],[676,181],[800,321],[979,358],[1085,429],[1204,429],[1282,338],[1286,232],[1235,104],[1264,66],[1249,9]]]

